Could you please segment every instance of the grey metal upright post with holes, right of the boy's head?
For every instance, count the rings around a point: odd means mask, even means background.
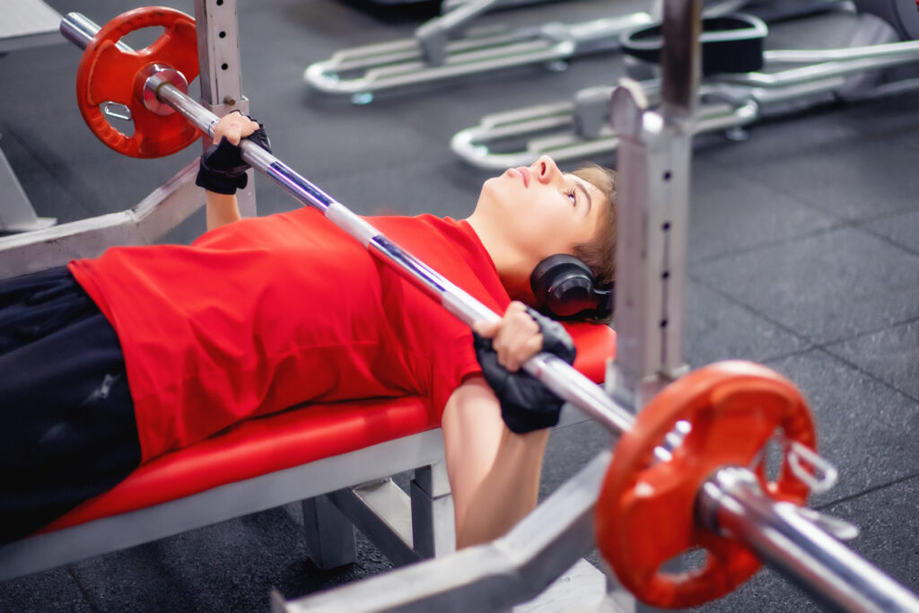
[[[624,80],[612,95],[623,180],[617,223],[618,348],[607,372],[607,392],[635,413],[686,371],[683,297],[701,4],[664,0],[661,108],[649,109],[635,81]],[[677,570],[676,564],[670,570]],[[608,583],[608,598],[628,607],[630,595],[614,577]]]

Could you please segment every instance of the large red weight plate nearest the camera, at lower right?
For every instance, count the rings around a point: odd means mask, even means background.
[[[686,421],[691,430],[668,461],[654,448]],[[712,364],[667,386],[618,442],[596,505],[596,539],[619,580],[653,607],[695,607],[732,591],[760,566],[752,553],[696,525],[702,484],[725,466],[750,466],[770,437],[815,448],[811,412],[789,380],[750,362]],[[783,465],[769,494],[803,504],[807,486]],[[664,562],[701,548],[704,565],[686,573]]]

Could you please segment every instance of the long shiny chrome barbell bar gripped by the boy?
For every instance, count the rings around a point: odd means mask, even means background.
[[[63,36],[81,49],[89,45],[98,29],[94,22],[79,13],[68,14],[61,23]],[[124,51],[131,51],[122,42],[118,44]],[[219,118],[170,83],[163,74],[153,74],[147,78],[144,89],[152,89],[159,102],[174,108],[200,131],[213,137],[213,129]],[[272,153],[250,141],[243,141],[241,146],[246,163],[268,176],[301,203],[323,212],[330,221],[379,255],[382,261],[405,273],[406,278],[465,324],[500,319],[497,313],[392,243],[368,221],[314,186]],[[612,434],[618,436],[634,425],[635,417],[627,408],[616,403],[593,381],[562,359],[539,353],[529,358],[523,368],[562,400],[572,403]],[[671,444],[678,445],[678,439],[686,433],[674,432],[673,435],[675,440]],[[655,449],[655,457],[667,460],[671,450],[664,447],[659,451]],[[752,475],[743,469],[723,469],[699,491],[698,517],[709,517],[709,521],[715,522],[709,526],[710,529],[716,533],[730,534],[807,591],[815,592],[829,602],[843,606],[850,602],[876,602],[890,605],[891,608],[887,610],[919,610],[919,598],[817,528],[807,517],[777,512],[776,501],[759,489],[758,482],[755,488],[751,486],[743,472]],[[818,565],[819,573],[815,573],[808,565],[811,562],[796,562],[794,556],[800,552],[807,554],[808,560]],[[853,581],[855,587],[845,589],[840,585],[838,577],[857,575],[863,578]]]

